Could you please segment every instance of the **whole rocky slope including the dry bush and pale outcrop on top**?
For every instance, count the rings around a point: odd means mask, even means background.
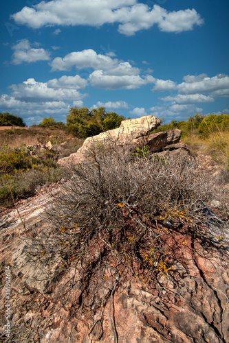
[[[226,169],[158,123],[87,139],[1,217],[5,342],[228,342]]]

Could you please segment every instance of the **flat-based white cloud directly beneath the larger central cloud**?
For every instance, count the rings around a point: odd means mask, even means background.
[[[96,70],[89,75],[89,82],[95,88],[107,89],[135,89],[145,84],[150,84],[155,79],[151,75],[106,75],[102,70]]]

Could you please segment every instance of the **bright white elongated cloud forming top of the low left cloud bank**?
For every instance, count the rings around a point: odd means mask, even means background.
[[[12,89],[12,97],[29,102],[78,100],[85,96],[76,89],[52,88],[48,86],[47,82],[36,82],[32,78],[22,84],[12,84],[10,88]]]

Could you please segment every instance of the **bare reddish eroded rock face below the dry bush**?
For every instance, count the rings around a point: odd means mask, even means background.
[[[229,342],[226,250],[206,250],[199,241],[173,228],[169,234],[164,230],[168,256],[173,252],[176,259],[171,272],[161,271],[147,287],[137,277],[117,284],[112,306],[114,279],[98,275],[96,280],[78,283],[74,265],[56,279],[57,263],[47,281],[44,266],[26,259],[28,237],[48,225],[43,213],[49,201],[45,194],[19,207],[27,234],[16,210],[1,217],[2,337],[5,264],[11,266],[12,278],[12,336],[8,342],[107,343],[113,342],[114,334],[120,343]],[[215,236],[218,234],[216,230]],[[228,228],[223,235],[228,244]]]

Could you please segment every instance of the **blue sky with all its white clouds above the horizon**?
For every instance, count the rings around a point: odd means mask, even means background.
[[[228,15],[228,0],[3,1],[0,111],[229,114]]]

